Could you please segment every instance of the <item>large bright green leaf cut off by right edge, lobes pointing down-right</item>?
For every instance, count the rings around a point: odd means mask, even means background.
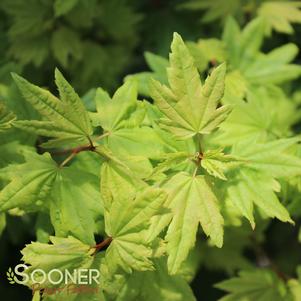
[[[279,139],[262,144],[247,140],[233,147],[232,153],[245,162],[239,173],[232,177],[232,182],[227,184],[228,197],[252,227],[255,226],[253,203],[267,216],[293,223],[275,194],[280,190],[275,178],[300,175],[300,158],[287,151],[297,141],[297,138]]]

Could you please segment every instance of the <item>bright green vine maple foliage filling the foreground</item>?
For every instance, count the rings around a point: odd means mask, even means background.
[[[98,88],[94,112],[58,70],[59,97],[13,74],[33,118],[1,104],[1,135],[39,138],[1,146],[18,158],[1,169],[2,217],[36,213],[37,241],[21,251],[31,269],[101,275],[97,294],[45,295],[46,283],[34,300],[196,300],[200,255],[223,250],[227,268],[241,269],[217,284],[223,300],[300,300],[300,279],[242,258],[247,244],[260,253],[271,219],[294,227],[280,191],[301,174],[294,104],[279,86],[301,74],[289,64],[296,47],[262,54],[261,29],[229,19],[222,40],[186,45],[174,34],[169,61],[147,54],[154,71],[128,76],[112,97]]]

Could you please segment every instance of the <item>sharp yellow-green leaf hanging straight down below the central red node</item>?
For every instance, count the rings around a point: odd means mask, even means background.
[[[212,242],[221,247],[224,220],[217,197],[205,176],[193,177],[181,172],[163,187],[168,192],[167,207],[172,213],[167,218],[163,216],[158,225],[164,228],[171,219],[166,235],[168,270],[176,274],[195,244],[199,223]]]

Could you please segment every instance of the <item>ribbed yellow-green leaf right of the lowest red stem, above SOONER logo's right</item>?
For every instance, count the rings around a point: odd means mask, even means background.
[[[106,262],[114,273],[118,268],[130,273],[134,270],[152,270],[152,249],[147,241],[151,218],[161,214],[166,194],[155,188],[137,193],[135,198],[123,196],[106,199],[105,226],[112,242],[106,251]]]

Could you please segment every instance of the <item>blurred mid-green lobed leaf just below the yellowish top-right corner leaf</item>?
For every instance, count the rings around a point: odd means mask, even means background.
[[[256,18],[242,30],[233,18],[228,18],[223,32],[229,67],[239,70],[249,84],[279,84],[301,74],[298,65],[290,64],[298,48],[286,44],[264,54],[260,52],[264,39],[264,22]]]

